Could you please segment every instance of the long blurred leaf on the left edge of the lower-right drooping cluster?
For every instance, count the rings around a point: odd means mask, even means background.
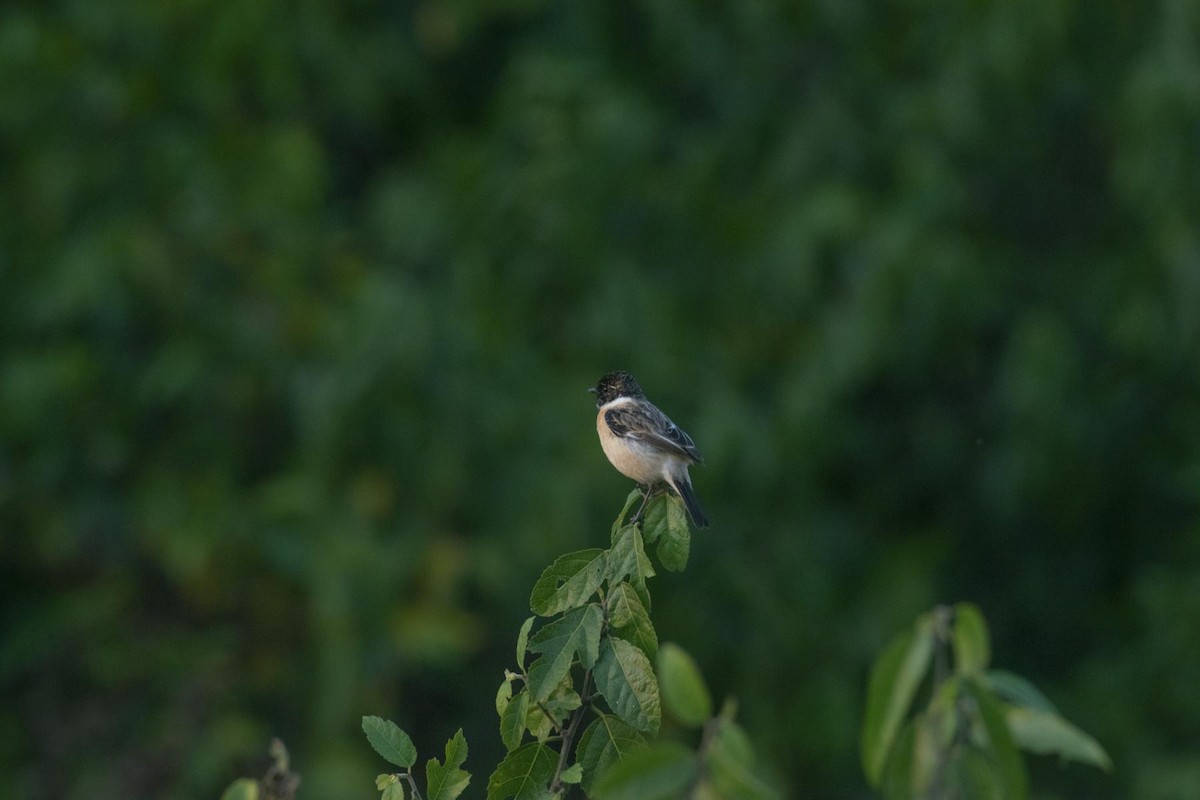
[[[878,787],[883,765],[934,655],[934,622],[923,614],[888,644],[871,668],[863,722],[863,771]]]

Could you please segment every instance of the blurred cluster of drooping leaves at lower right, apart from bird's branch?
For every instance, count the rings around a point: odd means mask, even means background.
[[[884,798],[1024,800],[1022,750],[1111,769],[1099,742],[990,661],[988,625],[971,603],[923,614],[887,646],[871,670],[862,740],[868,782]],[[923,686],[929,700],[912,712]]]

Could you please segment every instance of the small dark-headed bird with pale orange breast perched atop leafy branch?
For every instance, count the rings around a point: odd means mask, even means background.
[[[667,419],[628,372],[610,372],[588,390],[596,396],[596,432],[600,446],[617,471],[637,481],[646,497],[634,519],[642,516],[655,485],[664,482],[683,498],[697,528],[708,527],[691,488],[688,467],[703,461],[696,443]]]

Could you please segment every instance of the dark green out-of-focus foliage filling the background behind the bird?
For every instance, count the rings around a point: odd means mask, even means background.
[[[658,628],[792,795],[970,599],[1114,757],[1040,798],[1198,796],[1198,143],[1194,0],[10,0],[0,800],[270,735],[320,800],[378,712],[497,763],[612,368],[707,458]]]

